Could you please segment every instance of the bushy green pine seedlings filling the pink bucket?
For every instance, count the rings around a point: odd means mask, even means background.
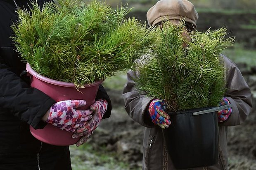
[[[155,32],[125,18],[130,10],[96,1],[59,0],[42,10],[32,3],[30,11],[18,9],[13,39],[36,72],[83,87],[129,69],[154,44]]]

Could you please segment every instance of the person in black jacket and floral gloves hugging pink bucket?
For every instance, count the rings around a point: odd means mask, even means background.
[[[26,69],[26,63],[21,61],[15,51],[10,38],[13,34],[10,26],[17,21],[17,8],[29,10],[31,1],[0,0],[0,170],[71,170],[69,147],[49,145],[37,140],[31,135],[29,126],[43,129],[46,122],[49,122],[72,132],[76,129],[72,130],[70,125],[81,127],[77,131],[81,133],[73,136],[83,136],[77,143],[81,145],[93,133],[100,120],[110,116],[111,101],[100,85],[96,102],[90,110],[83,112],[76,110],[78,106],[85,105],[83,100],[56,103],[30,86],[30,77],[21,74]],[[48,1],[37,0],[40,7]],[[61,115],[60,111],[66,115]],[[64,119],[73,114],[93,116],[83,120],[81,125],[88,122],[84,126],[76,126],[79,121],[67,125]],[[57,119],[63,123],[54,121]]]

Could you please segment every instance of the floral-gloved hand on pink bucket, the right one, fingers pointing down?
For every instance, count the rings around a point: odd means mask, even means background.
[[[90,106],[90,110],[94,112],[92,119],[90,119],[90,121],[83,127],[78,128],[76,130],[77,133],[72,135],[72,138],[79,138],[83,136],[80,140],[78,140],[76,146],[83,145],[83,143],[86,142],[95,131],[104,113],[107,111],[107,101],[105,99],[95,101],[95,103]]]

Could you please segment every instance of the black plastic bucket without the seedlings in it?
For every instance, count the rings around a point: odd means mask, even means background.
[[[163,129],[173,164],[177,169],[204,167],[218,161],[218,119],[215,112],[193,115],[210,108],[168,113],[171,125]]]

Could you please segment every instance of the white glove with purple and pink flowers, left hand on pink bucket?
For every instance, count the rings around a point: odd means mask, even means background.
[[[46,122],[73,133],[92,118],[91,110],[76,110],[85,105],[86,101],[84,100],[59,101],[51,106]]]

